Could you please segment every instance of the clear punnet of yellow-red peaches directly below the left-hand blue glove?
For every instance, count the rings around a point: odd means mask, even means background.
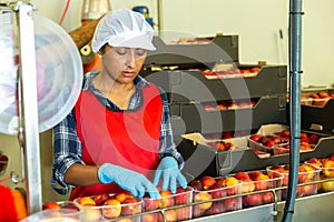
[[[128,193],[99,194],[78,198],[73,201],[84,214],[84,221],[109,221],[121,216],[130,216],[127,221],[140,222],[143,199]]]

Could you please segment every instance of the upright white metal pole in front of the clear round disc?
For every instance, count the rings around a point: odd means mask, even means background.
[[[19,117],[19,142],[24,154],[24,181],[27,185],[27,209],[28,213],[36,213],[41,210],[41,169],[40,147],[38,129],[38,99],[36,77],[36,53],[35,53],[35,30],[32,21],[32,6],[18,2],[19,21],[19,102],[21,112]]]

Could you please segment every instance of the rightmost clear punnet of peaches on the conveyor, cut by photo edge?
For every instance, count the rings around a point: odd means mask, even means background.
[[[321,170],[320,181],[334,179],[334,154],[328,158],[312,158],[305,163],[312,164]],[[320,193],[334,191],[334,181],[325,181],[318,183],[317,191]]]

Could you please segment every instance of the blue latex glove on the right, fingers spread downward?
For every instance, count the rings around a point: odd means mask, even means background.
[[[166,157],[161,160],[155,175],[154,184],[157,186],[163,175],[161,190],[169,189],[171,193],[176,193],[176,181],[181,188],[187,188],[187,180],[178,169],[177,161],[171,157]]]

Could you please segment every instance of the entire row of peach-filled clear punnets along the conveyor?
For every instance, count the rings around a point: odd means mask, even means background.
[[[334,178],[334,155],[328,159],[311,159],[307,163],[301,164],[298,183],[318,181],[321,168],[324,176]],[[72,208],[81,211],[82,220],[88,222],[185,221],[273,203],[275,196],[276,201],[285,200],[286,189],[276,188],[288,185],[288,165],[272,165],[266,170],[237,172],[225,176],[204,175],[190,181],[187,189],[178,188],[175,194],[168,190],[160,191],[159,200],[150,199],[148,194],[139,199],[128,192],[101,193],[76,199]],[[323,190],[334,190],[334,182],[322,184]],[[297,186],[297,198],[316,192],[317,184]],[[179,208],[170,208],[178,205]],[[59,208],[57,202],[48,202],[43,205],[43,210]],[[136,215],[138,213],[144,214]]]

